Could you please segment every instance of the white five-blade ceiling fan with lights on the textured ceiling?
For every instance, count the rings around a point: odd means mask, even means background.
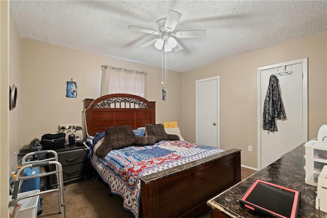
[[[154,44],[154,46],[161,50],[164,48],[165,52],[170,52],[174,50],[175,52],[181,51],[183,47],[178,43],[178,41],[174,38],[201,38],[205,36],[206,30],[190,30],[190,31],[179,31],[174,33],[175,27],[178,24],[181,13],[177,11],[169,10],[167,18],[161,18],[157,21],[158,31],[145,29],[142,27],[128,26],[127,28],[130,30],[136,30],[139,32],[149,33],[153,35],[160,35],[159,38],[155,38],[141,47],[148,47]]]

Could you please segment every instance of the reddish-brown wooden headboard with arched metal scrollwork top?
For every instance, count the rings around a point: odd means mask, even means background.
[[[84,99],[88,135],[103,132],[108,126],[129,124],[132,129],[155,123],[155,101],[130,94],[110,94]]]

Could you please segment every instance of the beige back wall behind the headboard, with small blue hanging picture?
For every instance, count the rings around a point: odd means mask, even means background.
[[[156,101],[156,122],[181,123],[181,73],[170,71],[167,100],[161,97],[161,68],[21,38],[22,143],[60,124],[82,124],[83,99],[100,97],[101,65],[145,71],[146,98]],[[109,49],[109,48],[108,48]],[[77,97],[66,98],[66,81],[77,82]]]

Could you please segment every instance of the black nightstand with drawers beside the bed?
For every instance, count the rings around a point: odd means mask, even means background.
[[[67,146],[55,149],[58,154],[58,161],[62,165],[63,182],[72,182],[92,174],[90,160],[87,158],[88,149],[83,146]],[[57,179],[50,176],[49,187],[55,186]]]

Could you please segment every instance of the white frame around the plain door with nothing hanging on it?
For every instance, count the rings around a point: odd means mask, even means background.
[[[209,77],[209,78],[205,78],[205,79],[199,79],[195,81],[195,140],[198,141],[198,94],[197,94],[197,90],[198,90],[198,82],[203,82],[203,81],[207,81],[207,80],[213,80],[213,79],[217,79],[217,147],[219,147],[219,125],[220,125],[220,118],[219,118],[219,114],[220,114],[220,109],[219,109],[219,76],[214,76],[214,77]],[[210,100],[210,98],[209,98]]]

